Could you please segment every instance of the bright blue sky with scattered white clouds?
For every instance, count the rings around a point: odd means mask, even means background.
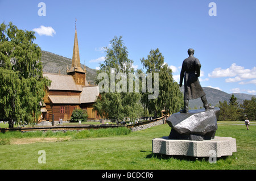
[[[255,0],[0,0],[0,23],[35,31],[42,50],[72,58],[77,19],[81,64],[98,69],[104,47],[122,36],[142,69],[141,59],[159,48],[179,82],[188,48],[201,63],[200,83],[227,93],[256,95]]]

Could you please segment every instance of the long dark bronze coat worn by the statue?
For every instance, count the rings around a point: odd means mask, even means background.
[[[180,85],[184,78],[184,99],[197,99],[205,95],[200,85],[201,64],[194,56],[189,56],[183,61],[180,71]]]

